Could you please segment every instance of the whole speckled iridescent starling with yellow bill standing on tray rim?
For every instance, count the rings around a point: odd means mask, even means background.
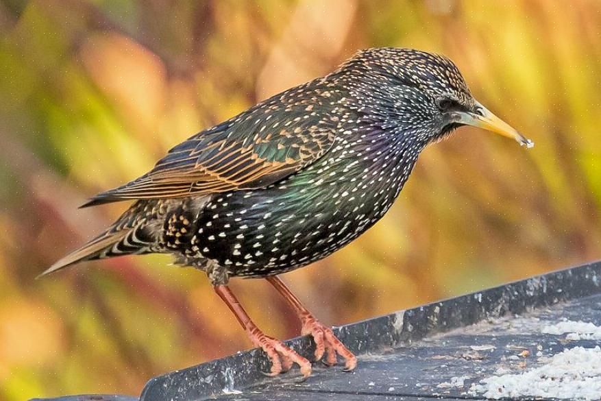
[[[412,49],[359,51],[336,71],[286,90],[173,147],[151,171],[84,206],[134,200],[108,230],[45,274],[82,260],[152,252],[205,271],[271,374],[309,361],[264,335],[228,288],[266,278],[295,309],[317,360],[356,357],[278,274],[325,258],[392,206],[419,153],[461,125],[533,143],[472,97],[455,64]]]

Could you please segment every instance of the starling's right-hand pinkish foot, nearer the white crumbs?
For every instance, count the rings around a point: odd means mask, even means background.
[[[315,360],[319,361],[326,354],[323,361],[328,366],[336,365],[336,354],[345,360],[345,372],[350,372],[357,366],[357,357],[345,347],[345,345],[334,335],[332,329],[324,326],[310,313],[301,316],[302,335],[311,335],[315,341]]]

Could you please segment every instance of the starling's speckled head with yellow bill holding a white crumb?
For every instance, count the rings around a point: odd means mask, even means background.
[[[445,56],[393,47],[359,51],[337,73],[349,77],[366,114],[384,128],[436,141],[473,125],[534,146],[471,95],[457,66]]]

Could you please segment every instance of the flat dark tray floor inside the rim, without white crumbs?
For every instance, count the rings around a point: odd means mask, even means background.
[[[388,352],[364,354],[360,357],[360,369],[352,374],[322,367],[315,369],[305,382],[281,376],[241,394],[218,399],[304,400],[310,399],[311,394],[313,399],[329,394],[338,400],[352,400],[350,395],[361,395],[363,398],[357,399],[363,400],[385,396],[483,399],[481,394],[469,391],[471,384],[494,376],[500,368],[519,374],[537,366],[541,356],[554,355],[567,347],[599,345],[600,341],[565,341],[565,335],[541,333],[543,326],[563,318],[601,325],[601,294],[543,308],[524,317],[484,321]]]

